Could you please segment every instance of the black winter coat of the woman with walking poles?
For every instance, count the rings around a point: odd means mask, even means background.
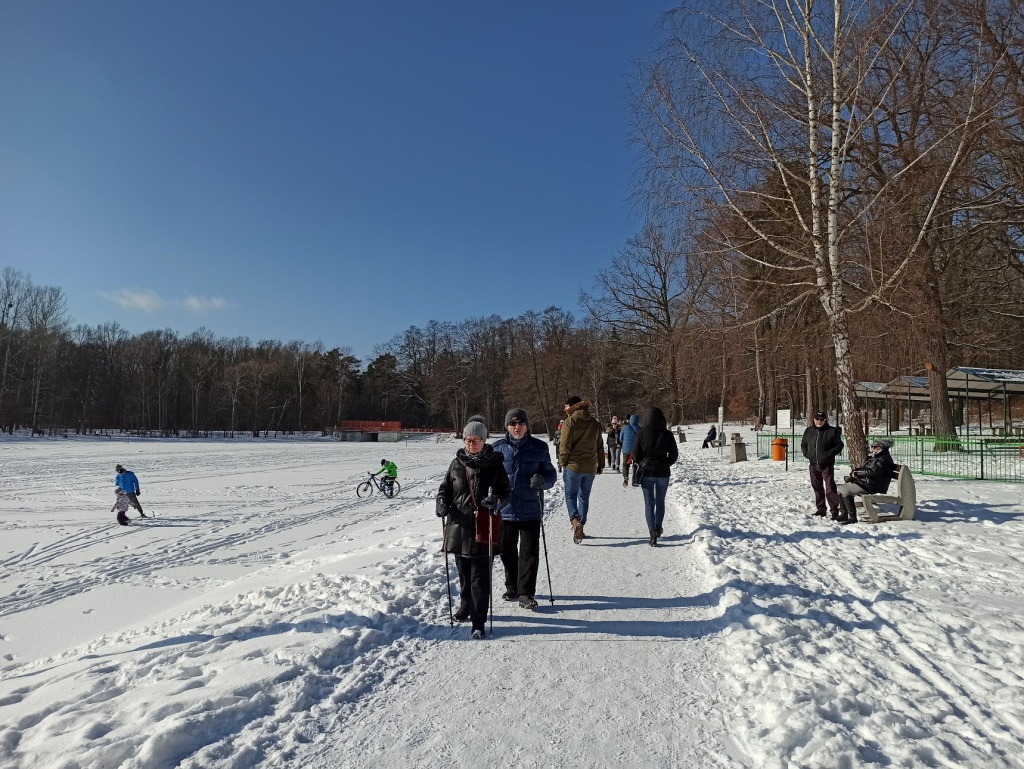
[[[476,505],[473,504],[473,497],[476,497],[478,505],[488,495],[508,501],[511,494],[501,453],[487,443],[479,454],[467,454],[465,448],[460,448],[437,489],[437,500],[443,502],[449,510],[444,549],[456,555],[486,555],[487,545],[475,542]]]

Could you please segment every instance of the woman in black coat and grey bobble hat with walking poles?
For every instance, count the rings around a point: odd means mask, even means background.
[[[484,637],[490,603],[492,559],[486,543],[476,541],[476,511],[498,515],[501,500],[511,488],[504,458],[486,442],[487,428],[471,421],[463,428],[464,447],[455,459],[437,489],[436,513],[444,519],[444,550],[455,556],[459,571],[459,610],[455,618],[469,620],[472,637]]]

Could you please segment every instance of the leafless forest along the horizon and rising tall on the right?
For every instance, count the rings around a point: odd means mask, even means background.
[[[637,66],[646,223],[581,276],[578,317],[430,322],[373,359],[316,342],[73,327],[0,284],[5,429],[329,430],[342,419],[554,429],[563,398],[673,421],[843,413],[857,381],[1024,368],[1024,17],[1013,0],[688,0]],[[510,267],[510,269],[512,269]],[[542,276],[534,276],[542,280]],[[852,456],[856,462],[858,457]]]

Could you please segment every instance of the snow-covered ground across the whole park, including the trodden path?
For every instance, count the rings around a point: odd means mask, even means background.
[[[549,493],[554,604],[542,566],[484,642],[449,625],[452,440],[0,441],[0,767],[1024,767],[1024,488],[840,528],[705,429],[663,547],[616,475],[583,545]],[[400,495],[357,499],[382,456]],[[117,462],[154,520],[116,525]]]

